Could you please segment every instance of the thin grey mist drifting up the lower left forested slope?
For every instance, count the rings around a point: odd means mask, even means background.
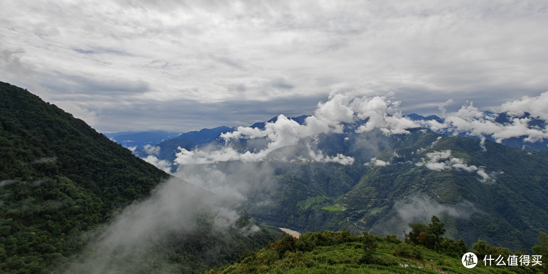
[[[260,231],[241,214],[242,209],[230,199],[172,178],[153,190],[148,199],[125,208],[104,228],[89,232],[88,246],[72,258],[64,272],[191,272],[173,262],[178,245],[209,239],[222,247],[228,244],[227,237],[248,237]],[[190,255],[219,265],[223,263],[219,252],[219,247],[203,243]]]

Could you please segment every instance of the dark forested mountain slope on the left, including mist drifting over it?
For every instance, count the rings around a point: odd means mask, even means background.
[[[0,272],[200,273],[276,232],[0,82]]]

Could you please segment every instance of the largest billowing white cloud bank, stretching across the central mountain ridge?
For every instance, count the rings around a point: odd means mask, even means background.
[[[272,151],[296,145],[303,138],[316,137],[321,133],[343,133],[342,123],[364,121],[365,123],[355,132],[380,129],[386,136],[409,133],[407,129],[418,127],[418,124],[403,117],[401,112],[397,111],[399,102],[389,100],[388,96],[357,97],[353,92],[344,94],[332,92],[327,102],[318,103],[314,115],[308,116],[303,125],[284,115],[279,115],[276,121],[265,123],[262,130],[256,127],[240,126],[236,131],[222,133],[220,136],[227,144],[238,139],[266,138],[269,143],[265,149],[253,153],[251,151],[238,153],[229,145],[213,151],[204,149],[188,151],[179,148],[180,152],[175,154],[175,163],[189,165],[212,164],[219,161],[260,161]],[[343,154],[323,155],[322,151],[313,151],[310,145],[308,148],[309,156],[313,161],[338,162],[343,165],[351,165],[354,162],[353,158]]]

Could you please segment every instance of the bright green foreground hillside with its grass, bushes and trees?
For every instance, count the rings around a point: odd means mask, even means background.
[[[286,235],[269,247],[238,259],[236,263],[207,273],[546,273],[543,266],[485,266],[484,255],[508,258],[506,248],[478,241],[471,249],[453,239],[440,238],[433,250],[421,244],[404,243],[395,236],[379,237],[368,232],[356,236],[349,231],[306,232],[300,238]],[[449,244],[447,244],[449,243]],[[548,242],[544,244],[548,247]],[[466,269],[461,258],[466,252],[477,254],[479,261]],[[532,254],[533,255],[533,254]],[[480,258],[481,257],[481,258]],[[544,256],[543,256],[544,258]]]

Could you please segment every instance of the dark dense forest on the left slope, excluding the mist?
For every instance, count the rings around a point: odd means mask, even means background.
[[[191,188],[84,121],[1,82],[0,155],[3,273],[64,272],[75,264],[85,265],[86,254],[97,253],[100,238],[128,205],[145,202],[151,191],[169,178]],[[208,191],[192,189],[216,199]],[[197,273],[264,246],[276,236],[263,226],[253,235],[238,232],[253,220],[241,208],[231,212],[237,212],[239,219],[219,234],[212,229],[214,212],[194,211],[189,220],[196,222],[197,229],[179,234],[170,231],[149,239],[152,244],[139,257],[140,268],[147,273],[155,269]],[[167,266],[160,269],[158,265]]]

